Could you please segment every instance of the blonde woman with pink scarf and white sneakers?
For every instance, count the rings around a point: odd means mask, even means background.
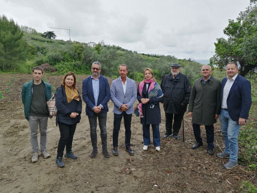
[[[137,87],[137,100],[140,102],[138,111],[140,122],[143,126],[143,150],[146,151],[151,144],[150,124],[153,130],[153,145],[156,151],[160,151],[160,132],[159,124],[161,122],[160,105],[163,92],[160,85],[155,81],[152,69],[144,70],[144,80]]]

